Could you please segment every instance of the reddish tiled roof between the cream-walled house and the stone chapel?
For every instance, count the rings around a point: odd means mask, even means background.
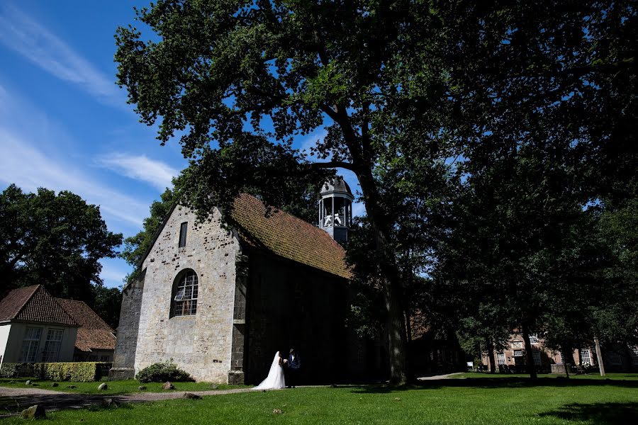
[[[66,300],[56,298],[67,314],[71,316],[77,324],[77,338],[75,346],[80,351],[93,350],[115,350],[115,331],[99,317],[91,307],[84,301]]]

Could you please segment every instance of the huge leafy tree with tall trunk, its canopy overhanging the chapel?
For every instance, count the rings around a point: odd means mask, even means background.
[[[356,174],[391,380],[405,382],[396,228],[418,214],[401,207],[439,192],[451,159],[484,164],[521,143],[569,148],[583,204],[634,193],[618,181],[637,165],[636,13],[631,1],[160,0],[138,10],[149,35],[118,28],[118,81],[162,143],[179,134],[191,167],[177,187],[199,211],[247,189],[280,206],[335,168]],[[313,162],[293,140],[318,128]]]

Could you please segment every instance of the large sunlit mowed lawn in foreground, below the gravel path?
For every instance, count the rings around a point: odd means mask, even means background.
[[[306,387],[52,412],[60,424],[638,424],[638,381],[433,380]],[[21,419],[4,419],[21,424]]]

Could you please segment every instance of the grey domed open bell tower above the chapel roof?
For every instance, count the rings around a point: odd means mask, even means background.
[[[347,242],[352,224],[352,191],[342,176],[335,176],[321,189],[319,227],[340,244]]]

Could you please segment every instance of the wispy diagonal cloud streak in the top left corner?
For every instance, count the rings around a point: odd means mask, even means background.
[[[47,28],[17,8],[0,9],[0,42],[58,79],[76,84],[102,103],[126,107],[122,91]]]

